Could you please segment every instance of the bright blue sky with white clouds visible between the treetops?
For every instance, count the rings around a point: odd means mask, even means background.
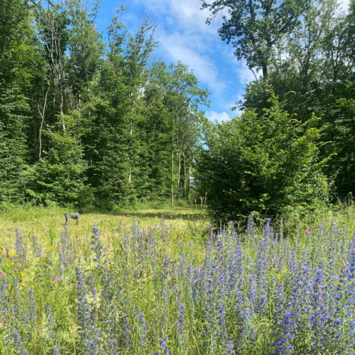
[[[211,121],[227,121],[236,116],[232,111],[243,98],[245,84],[254,79],[244,62],[237,61],[232,45],[219,37],[222,14],[207,25],[209,11],[201,10],[199,0],[102,0],[97,27],[109,26],[115,9],[126,6],[121,22],[134,33],[138,22],[150,16],[158,25],[156,57],[168,65],[179,60],[192,70],[202,89],[209,89],[210,107],[203,107]],[[349,0],[341,0],[347,11]]]

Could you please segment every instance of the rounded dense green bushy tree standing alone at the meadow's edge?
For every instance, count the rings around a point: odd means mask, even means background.
[[[273,216],[307,212],[327,202],[316,121],[301,124],[272,97],[261,117],[247,110],[240,119],[209,124],[197,181],[214,220],[240,219],[253,210]]]

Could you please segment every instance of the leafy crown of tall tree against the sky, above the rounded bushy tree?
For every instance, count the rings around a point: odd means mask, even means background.
[[[283,35],[293,31],[307,8],[307,0],[216,0],[209,4],[201,0],[202,9],[209,9],[211,23],[219,11],[223,16],[218,32],[222,40],[232,43],[238,60],[246,60],[250,70],[262,70],[263,81],[268,82],[273,46]]]

